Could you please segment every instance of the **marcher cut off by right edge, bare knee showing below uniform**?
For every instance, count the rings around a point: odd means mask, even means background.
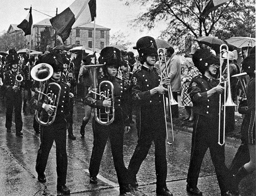
[[[250,161],[245,163],[238,170],[233,180],[233,193],[239,195],[238,185],[239,182],[249,173],[255,171],[255,53],[250,54],[243,61],[242,68],[248,74],[250,80],[246,86],[246,98],[248,107],[246,110],[246,123],[242,132],[245,138],[245,143],[249,148]]]

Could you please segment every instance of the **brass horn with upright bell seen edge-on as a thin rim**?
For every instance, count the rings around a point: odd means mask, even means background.
[[[112,82],[104,80],[99,84],[98,89],[98,72],[97,67],[103,66],[100,65],[84,65],[88,69],[92,89],[89,91],[89,93],[93,93],[93,99],[97,99],[97,95],[100,97],[100,100],[105,100],[110,98],[111,99],[111,106],[105,107],[105,109],[97,109],[94,108],[94,116],[95,120],[100,125],[109,125],[114,121],[114,114],[115,114],[115,108],[114,108],[114,86]],[[103,86],[110,86],[111,89],[108,90],[102,90]],[[99,91],[99,93],[97,93]]]

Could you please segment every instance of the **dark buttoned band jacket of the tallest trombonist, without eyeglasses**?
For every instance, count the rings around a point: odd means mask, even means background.
[[[132,98],[143,106],[163,105],[161,94],[150,94],[150,90],[159,86],[161,82],[160,70],[153,68],[152,71],[144,66],[136,70],[131,77]]]

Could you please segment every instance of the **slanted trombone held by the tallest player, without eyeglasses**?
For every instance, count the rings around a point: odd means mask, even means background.
[[[158,55],[158,60],[159,60],[159,69],[161,72],[161,83],[163,82],[163,73],[162,73],[162,69],[161,69],[161,65],[164,63],[165,64],[165,70],[166,70],[166,77],[169,77],[168,71],[167,71],[167,62],[166,62],[166,56],[165,56],[165,52],[164,52],[164,48],[159,48],[157,50],[157,55]],[[163,94],[163,104],[164,104],[164,116],[165,116],[165,129],[166,129],[166,140],[168,144],[173,144],[174,143],[174,136],[173,136],[173,125],[172,125],[172,115],[171,115],[171,105],[176,105],[178,104],[178,102],[175,101],[175,99],[173,98],[172,95],[172,91],[171,91],[171,86],[168,85],[168,107],[169,107],[169,111],[170,111],[170,118],[171,118],[171,133],[169,133],[168,128],[167,128],[167,120],[166,120],[166,100],[165,100],[165,96]],[[169,134],[172,135],[172,137],[169,137]]]

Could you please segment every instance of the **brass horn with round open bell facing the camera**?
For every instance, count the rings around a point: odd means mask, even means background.
[[[40,82],[38,93],[38,100],[41,100],[44,96],[44,103],[56,106],[53,112],[47,113],[45,110],[42,110],[40,113],[36,110],[35,118],[40,125],[51,125],[56,117],[57,106],[59,103],[61,86],[55,82],[49,83],[46,91],[45,85],[46,80],[52,77],[53,67],[47,63],[39,63],[31,69],[31,77]],[[44,93],[46,92],[46,93]]]

